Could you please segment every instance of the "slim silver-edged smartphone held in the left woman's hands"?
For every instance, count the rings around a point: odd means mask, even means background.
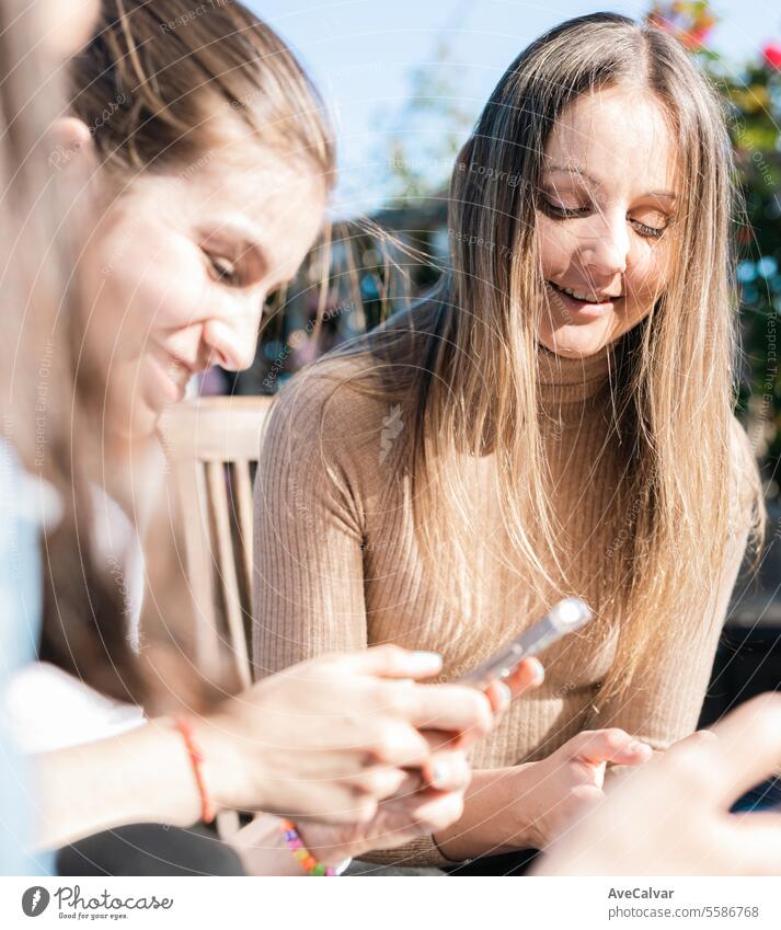
[[[585,627],[593,617],[594,613],[585,600],[579,597],[564,598],[541,620],[460,678],[458,684],[471,685],[484,691],[492,681],[509,678],[525,658],[541,653],[562,636]]]

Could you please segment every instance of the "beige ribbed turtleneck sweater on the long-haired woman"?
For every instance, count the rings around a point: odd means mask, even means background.
[[[542,347],[538,353],[556,516],[575,542],[578,577],[595,606],[600,599],[599,563],[611,538],[600,517],[620,473],[617,457],[601,455],[609,435],[615,353],[608,348],[583,360]],[[403,449],[403,415],[381,398],[334,386],[334,376],[346,382],[367,364],[363,356],[335,358],[303,372],[285,389],[271,418],[255,490],[259,676],[326,651],[393,642],[441,653],[449,680],[549,606],[505,577],[498,560],[491,563],[489,549],[483,553],[487,561],[479,618],[466,624],[443,610],[416,556],[407,481],[393,467],[395,452]],[[747,446],[737,421],[735,426],[738,441]],[[594,470],[596,461],[599,468]],[[474,493],[482,495],[481,510],[490,521],[490,462],[476,460],[470,467],[475,469]],[[686,655],[678,652],[658,668],[645,669],[642,682],[596,714],[594,699],[615,642],[589,645],[576,634],[566,638],[544,654],[544,685],[515,701],[497,728],[474,747],[473,767],[543,758],[584,728],[621,726],[657,748],[692,732],[748,521],[746,513],[745,531],[731,541],[713,620],[682,611],[681,623],[690,627]],[[447,861],[430,838],[368,858],[405,864]]]

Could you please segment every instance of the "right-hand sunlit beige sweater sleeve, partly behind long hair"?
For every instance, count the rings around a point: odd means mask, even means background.
[[[654,749],[666,749],[697,728],[719,639],[746,551],[758,486],[758,470],[748,437],[736,420],[733,427],[738,493],[730,502],[730,536],[705,616],[681,617],[688,631],[686,640],[676,638],[667,653],[658,654],[653,667],[641,667],[636,680],[624,689],[623,697],[606,701],[599,712],[592,715],[587,723],[589,728],[618,726]]]

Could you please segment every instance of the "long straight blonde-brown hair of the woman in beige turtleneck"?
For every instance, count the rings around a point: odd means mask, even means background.
[[[489,453],[507,561],[549,604],[579,594],[562,567],[566,550],[545,481],[539,321],[528,308],[543,306],[535,226],[545,141],[579,95],[616,85],[645,88],[664,107],[681,191],[668,286],[618,341],[610,376],[615,438],[628,452],[593,624],[598,635],[619,628],[601,698],[625,686],[641,658],[653,663],[655,647],[677,634],[681,609],[701,608],[705,622],[728,532],[749,506],[751,539],[761,546],[765,536],[756,462],[734,429],[738,306],[730,226],[740,204],[733,156],[719,96],[684,48],[612,13],[568,20],[526,48],[458,156],[451,267],[427,299],[352,349],[372,353],[414,423],[416,533],[424,558],[436,560],[444,596],[457,592],[463,605],[480,588],[474,504],[459,457]],[[489,170],[504,183],[489,183]],[[606,449],[616,453],[617,441]]]

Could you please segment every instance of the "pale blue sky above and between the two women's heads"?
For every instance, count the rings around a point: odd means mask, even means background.
[[[449,57],[438,73],[447,70],[448,93],[458,108],[476,116],[512,59],[549,26],[598,9],[638,16],[648,7],[646,0],[249,3],[290,43],[326,99],[338,134],[341,181],[334,208],[340,214],[370,210],[382,202],[390,135],[406,134],[413,157],[427,145],[436,147],[433,136],[441,128],[425,122],[407,125],[405,103],[414,69],[433,65],[443,42]],[[722,18],[712,44],[735,61],[756,54],[766,39],[781,41],[778,0],[715,0],[712,7]],[[446,164],[430,165],[432,175],[445,179],[448,173]]]

